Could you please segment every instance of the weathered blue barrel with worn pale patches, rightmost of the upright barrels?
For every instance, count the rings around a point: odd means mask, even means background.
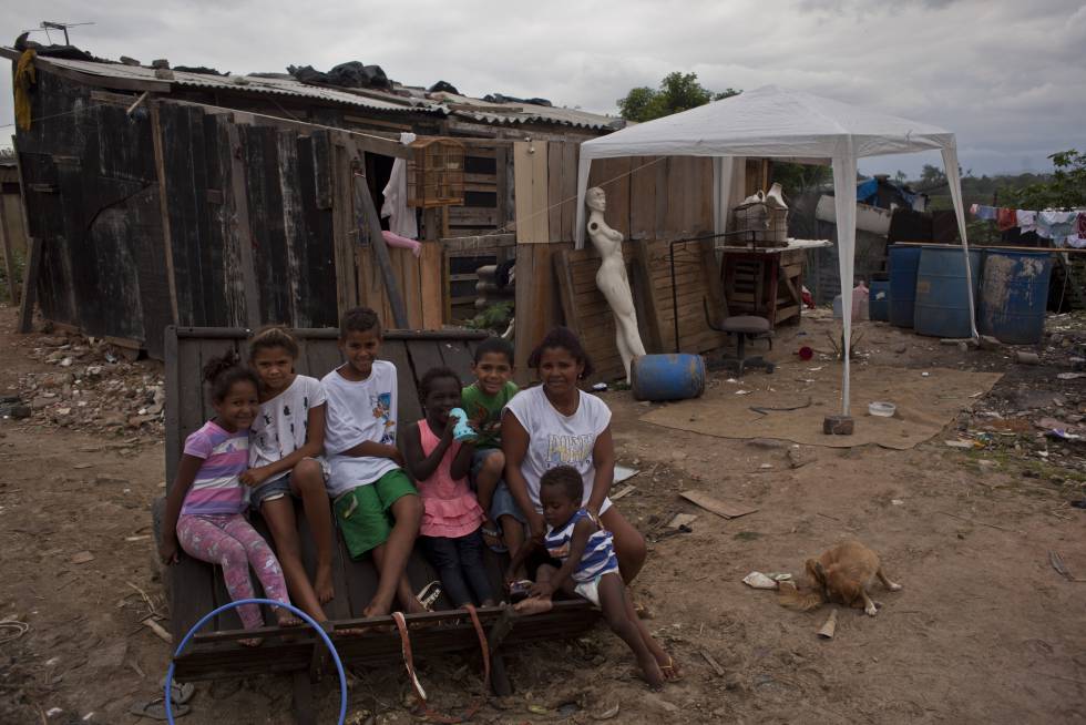
[[[1033,345],[1045,334],[1048,278],[1047,252],[988,251],[981,278],[976,326],[1007,345]]]

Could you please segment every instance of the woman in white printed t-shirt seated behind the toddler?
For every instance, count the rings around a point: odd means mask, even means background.
[[[531,537],[543,540],[546,523],[540,504],[540,478],[555,466],[572,466],[584,480],[584,508],[614,535],[622,578],[631,582],[645,563],[645,538],[612,506],[615,479],[611,409],[577,387],[592,374],[592,361],[577,336],[556,327],[529,358],[543,385],[522,390],[502,413],[505,481]]]

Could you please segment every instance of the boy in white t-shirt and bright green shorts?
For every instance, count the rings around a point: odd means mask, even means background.
[[[404,570],[422,523],[422,501],[396,447],[396,366],[379,360],[381,323],[368,307],[344,314],[339,349],[347,362],[321,379],[328,397],[328,494],[351,558],[368,552],[380,572],[365,616],[382,616],[393,596],[407,612],[424,606]]]

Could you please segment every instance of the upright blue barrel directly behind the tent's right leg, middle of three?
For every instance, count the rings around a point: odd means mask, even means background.
[[[932,337],[972,337],[970,295],[976,300],[981,253],[970,252],[972,285],[965,286],[965,255],[956,245],[923,247],[916,267],[913,327]]]

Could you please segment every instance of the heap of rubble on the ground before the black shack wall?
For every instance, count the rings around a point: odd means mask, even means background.
[[[19,395],[0,401],[0,416],[34,426],[162,437],[162,364],[133,361],[124,355],[130,350],[75,335],[41,336],[32,344],[30,356],[54,369],[21,375]]]

